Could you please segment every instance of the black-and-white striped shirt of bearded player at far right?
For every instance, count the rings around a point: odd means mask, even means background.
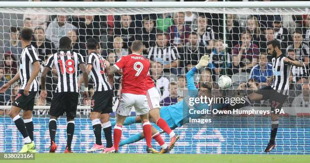
[[[289,78],[292,66],[284,63],[285,57],[286,56],[282,54],[281,56],[272,59],[274,75],[272,88],[283,95],[288,95]]]

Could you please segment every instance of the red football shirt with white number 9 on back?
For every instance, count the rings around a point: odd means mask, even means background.
[[[114,66],[123,69],[121,93],[146,95],[145,83],[150,66],[146,58],[139,54],[123,56]]]

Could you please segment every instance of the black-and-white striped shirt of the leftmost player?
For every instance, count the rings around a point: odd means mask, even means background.
[[[32,45],[28,45],[23,49],[19,59],[19,78],[21,81],[21,90],[25,89],[32,74],[32,64],[36,61],[38,61],[37,50]],[[38,91],[37,77],[35,77],[32,81],[29,91]]]

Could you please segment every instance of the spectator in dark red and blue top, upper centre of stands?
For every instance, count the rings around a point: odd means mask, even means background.
[[[174,14],[174,25],[170,26],[167,30],[167,39],[171,45],[177,48],[182,48],[186,43],[186,38],[190,34],[190,27],[184,24],[184,12]]]

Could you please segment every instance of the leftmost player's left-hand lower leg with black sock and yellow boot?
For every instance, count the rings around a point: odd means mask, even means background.
[[[19,132],[23,135],[23,142],[24,142],[24,146],[22,147],[22,149],[19,151],[20,153],[26,153],[28,152],[30,149],[34,148],[34,143],[31,141],[28,132],[26,130],[25,124],[23,119],[19,116],[19,112],[20,112],[20,108],[16,107],[16,106],[12,106],[10,112],[9,112],[9,116],[12,118],[12,120],[15,123],[15,126],[17,127],[17,129],[19,130]]]

